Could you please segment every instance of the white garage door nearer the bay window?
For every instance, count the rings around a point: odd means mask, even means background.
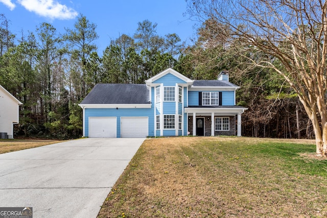
[[[122,117],[122,138],[146,138],[149,135],[148,117]]]

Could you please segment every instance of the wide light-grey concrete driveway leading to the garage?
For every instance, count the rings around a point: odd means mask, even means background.
[[[0,155],[0,207],[97,217],[144,138],[86,138]]]

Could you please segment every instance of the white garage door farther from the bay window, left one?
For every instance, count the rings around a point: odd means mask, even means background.
[[[116,117],[89,117],[88,137],[90,138],[116,138]]]

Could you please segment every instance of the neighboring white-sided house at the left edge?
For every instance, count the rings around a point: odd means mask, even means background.
[[[19,123],[19,105],[22,103],[0,85],[0,138],[13,138],[14,124]]]

